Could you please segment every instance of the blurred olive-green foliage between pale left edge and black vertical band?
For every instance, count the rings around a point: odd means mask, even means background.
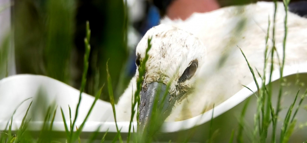
[[[18,1],[15,5],[17,73],[69,81],[74,1]]]

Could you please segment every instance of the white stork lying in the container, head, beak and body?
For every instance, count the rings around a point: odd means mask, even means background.
[[[275,41],[282,58],[285,12],[282,3],[277,7]],[[136,50],[138,63],[144,58],[147,39],[152,37],[141,92],[141,124],[150,116],[152,95],[157,93],[158,85],[165,88],[171,78],[168,103],[165,103],[169,108],[164,112],[170,115],[163,115],[166,121],[198,116],[204,108],[208,110],[213,104],[220,104],[243,89],[242,85],[251,83],[252,74],[238,47],[246,54],[251,67],[262,74],[268,17],[271,21],[268,44],[272,46],[273,15],[273,3],[258,2],[195,13],[185,21],[166,17],[162,24],[151,28]],[[289,12],[285,66],[307,66],[306,45],[307,19]],[[276,56],[274,63],[278,65]],[[130,119],[131,95],[136,90],[137,76],[138,70],[118,103],[119,120]],[[169,109],[171,112],[167,113]]]

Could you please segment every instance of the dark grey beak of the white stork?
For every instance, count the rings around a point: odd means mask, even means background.
[[[139,131],[156,132],[170,115],[176,100],[172,99],[167,91],[166,85],[159,82],[151,82],[141,91]],[[149,132],[148,132],[149,133]]]

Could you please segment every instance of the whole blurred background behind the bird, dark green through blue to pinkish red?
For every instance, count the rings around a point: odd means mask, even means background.
[[[135,48],[160,17],[186,19],[193,12],[254,3],[255,0],[18,0],[12,7],[17,74],[47,75],[79,89],[85,22],[91,55],[85,93],[106,82],[106,62],[116,101],[134,76]],[[294,2],[294,1],[292,1]],[[103,100],[108,101],[104,88]]]

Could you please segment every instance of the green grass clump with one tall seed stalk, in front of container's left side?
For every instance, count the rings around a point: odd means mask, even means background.
[[[60,107],[62,119],[63,119],[63,126],[65,128],[65,134],[66,134],[66,139],[67,139],[66,142],[75,142],[76,140],[78,140],[78,142],[80,142],[80,134],[82,132],[82,129],[83,129],[87,119],[89,118],[97,100],[99,99],[100,94],[102,92],[102,88],[103,88],[103,86],[102,86],[101,89],[99,90],[99,92],[95,95],[95,99],[93,101],[93,104],[92,104],[90,110],[87,112],[87,115],[84,118],[81,125],[79,127],[75,126],[76,120],[77,120],[77,117],[78,117],[78,112],[79,112],[78,108],[79,108],[79,105],[80,105],[80,102],[81,102],[81,99],[82,99],[82,91],[83,91],[83,89],[85,87],[85,83],[86,83],[86,72],[87,72],[87,68],[88,68],[89,54],[90,54],[90,49],[91,49],[90,44],[89,44],[90,35],[91,35],[90,24],[87,21],[86,22],[86,37],[84,38],[85,54],[84,54],[84,70],[83,70],[82,84],[81,84],[82,86],[80,88],[79,101],[78,101],[78,104],[77,104],[77,108],[76,108],[76,111],[75,111],[75,118],[74,118],[73,121],[71,119],[72,118],[71,117],[71,108],[69,106],[70,128],[68,128],[67,120],[64,116],[63,109],[62,109],[62,107]],[[26,100],[29,100],[29,99],[26,99]],[[52,129],[53,129],[53,123],[54,123],[54,120],[55,120],[57,107],[55,107],[53,113],[51,113],[52,107],[49,106],[47,113],[46,113],[45,120],[44,120],[43,125],[42,125],[42,129],[39,133],[40,135],[38,136],[38,138],[33,138],[29,135],[29,132],[27,131],[28,124],[30,122],[30,120],[27,120],[27,115],[28,115],[28,111],[29,111],[29,109],[32,105],[32,102],[30,103],[30,105],[29,105],[29,107],[26,111],[26,114],[25,114],[23,120],[21,121],[21,125],[20,125],[19,129],[16,131],[16,134],[13,134],[13,132],[12,132],[13,116],[14,116],[16,110],[17,110],[17,109],[15,109],[15,111],[13,112],[12,118],[10,120],[10,124],[8,123],[9,129],[1,132],[0,143],[5,143],[5,142],[52,142],[53,141],[54,138],[52,138],[52,134],[53,134]],[[20,105],[22,103],[20,103]],[[17,106],[17,108],[19,106]],[[51,118],[51,120],[50,120],[50,118]],[[76,131],[74,131],[74,128],[76,128]],[[93,136],[95,136],[95,134],[98,133],[98,129],[97,129],[96,132],[94,132]],[[103,136],[101,142],[104,141],[104,137],[105,137],[105,135]]]

